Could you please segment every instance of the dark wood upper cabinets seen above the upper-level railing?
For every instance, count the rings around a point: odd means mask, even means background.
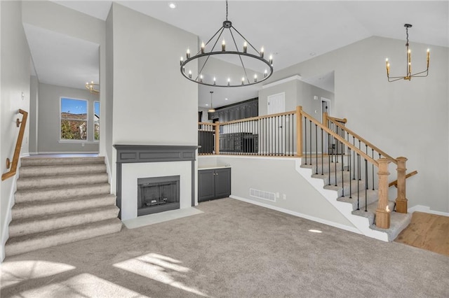
[[[208,113],[209,120],[218,119],[219,122],[228,122],[259,115],[259,99],[249,99],[222,108],[216,108],[214,113]]]

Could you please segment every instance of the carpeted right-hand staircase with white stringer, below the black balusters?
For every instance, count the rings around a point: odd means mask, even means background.
[[[302,158],[298,171],[362,234],[383,241],[393,241],[409,225],[411,213],[394,212],[396,204],[390,200],[388,202],[391,211],[389,229],[376,227],[378,191],[373,190],[371,185],[370,189],[366,190],[365,180],[356,177],[354,179],[354,173],[348,171],[347,155],[343,157],[334,155],[332,158],[323,156],[323,159],[320,155],[318,159],[308,158],[307,164],[305,161],[306,159]]]

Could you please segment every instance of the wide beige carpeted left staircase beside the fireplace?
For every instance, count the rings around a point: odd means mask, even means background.
[[[24,157],[5,255],[121,230],[104,157]]]

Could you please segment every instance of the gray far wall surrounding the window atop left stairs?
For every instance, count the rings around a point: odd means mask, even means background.
[[[60,141],[61,97],[67,97],[69,99],[85,99],[88,101],[88,135],[86,141]],[[98,152],[99,142],[93,140],[93,102],[98,100],[98,94],[91,94],[91,92],[88,92],[86,89],[75,89],[40,83],[38,119],[39,138],[37,140],[38,152]],[[34,127],[32,127],[32,129],[34,129]]]

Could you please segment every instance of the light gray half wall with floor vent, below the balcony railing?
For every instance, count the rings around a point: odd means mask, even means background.
[[[254,204],[264,204],[300,214],[305,218],[325,222],[343,229],[354,230],[354,225],[337,211],[295,169],[296,159],[281,157],[199,157],[199,168],[230,165],[232,197]],[[250,188],[279,194],[276,201],[250,196]],[[283,196],[285,195],[285,199]]]

